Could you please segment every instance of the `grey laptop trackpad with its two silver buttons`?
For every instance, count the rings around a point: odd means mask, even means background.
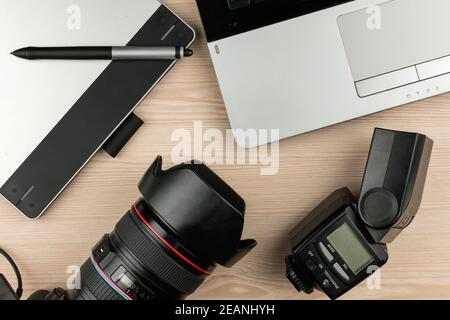
[[[394,0],[338,18],[360,97],[450,72],[450,1]]]

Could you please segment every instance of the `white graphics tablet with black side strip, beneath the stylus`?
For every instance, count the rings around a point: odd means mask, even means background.
[[[0,0],[0,194],[36,219],[175,61],[28,61],[26,46],[189,46],[157,0]]]

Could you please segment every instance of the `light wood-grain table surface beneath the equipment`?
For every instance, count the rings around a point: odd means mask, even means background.
[[[138,198],[138,180],[157,155],[165,168],[174,165],[174,130],[192,132],[196,120],[205,129],[229,128],[195,1],[165,2],[196,29],[195,56],[178,63],[137,108],[145,125],[119,157],[100,151],[37,221],[27,221],[0,199],[0,246],[22,270],[25,297],[65,286],[68,266],[84,262]],[[343,298],[450,298],[450,94],[282,141],[275,176],[260,175],[258,165],[212,165],[246,200],[244,236],[259,245],[232,269],[219,267],[190,298],[324,299],[320,293],[297,293],[285,279],[287,233],[335,189],[348,186],[358,193],[377,126],[427,134],[435,147],[422,206],[389,246],[381,288],[363,283]],[[0,270],[14,279],[3,260]]]

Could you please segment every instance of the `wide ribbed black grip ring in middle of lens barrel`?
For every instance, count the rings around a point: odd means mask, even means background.
[[[116,234],[126,247],[156,277],[184,294],[191,294],[204,281],[173,260],[154,240],[146,236],[126,214],[116,226]]]

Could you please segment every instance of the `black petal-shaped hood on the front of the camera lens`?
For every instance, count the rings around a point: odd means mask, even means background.
[[[231,267],[256,245],[241,240],[244,200],[203,163],[163,171],[158,156],[139,190],[161,223],[200,256]]]

